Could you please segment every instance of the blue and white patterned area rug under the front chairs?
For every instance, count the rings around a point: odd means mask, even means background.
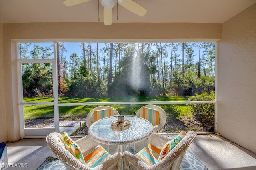
[[[48,157],[36,170],[66,170],[66,168],[58,158]],[[208,168],[190,150],[187,150],[180,170],[208,170]]]

